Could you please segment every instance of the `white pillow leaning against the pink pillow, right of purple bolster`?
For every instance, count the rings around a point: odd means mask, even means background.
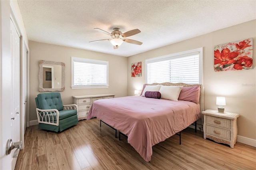
[[[183,86],[164,86],[162,85],[159,92],[162,99],[178,101],[180,91]]]

